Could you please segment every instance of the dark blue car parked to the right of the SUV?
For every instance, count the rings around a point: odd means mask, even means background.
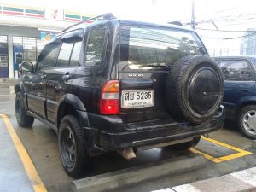
[[[242,133],[256,139],[256,55],[215,57],[224,75],[226,118],[236,120]]]

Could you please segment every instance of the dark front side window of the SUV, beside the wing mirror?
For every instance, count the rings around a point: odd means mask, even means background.
[[[50,67],[55,67],[55,62],[60,48],[61,41],[54,41],[45,45],[44,49],[38,56],[37,71],[41,71]]]

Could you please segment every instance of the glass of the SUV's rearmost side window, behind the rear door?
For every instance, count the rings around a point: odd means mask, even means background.
[[[96,27],[90,30],[90,38],[85,52],[85,64],[99,66],[102,64],[106,28]]]

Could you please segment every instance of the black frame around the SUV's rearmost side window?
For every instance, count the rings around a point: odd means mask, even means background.
[[[96,28],[104,29],[104,31],[105,31],[104,41],[103,41],[103,49],[102,49],[102,61],[101,61],[100,65],[95,65],[95,64],[88,65],[88,63],[86,62],[86,55],[87,55],[88,45],[89,45],[89,41],[90,41],[90,35],[91,35],[91,32]],[[105,59],[106,59],[106,55],[107,55],[107,46],[108,46],[108,37],[109,37],[108,26],[103,26],[103,25],[91,26],[87,37],[88,38],[86,39],[86,44],[84,44],[84,67],[102,67],[105,63]]]

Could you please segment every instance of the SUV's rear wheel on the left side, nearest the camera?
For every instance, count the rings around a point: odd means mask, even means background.
[[[61,120],[58,143],[61,162],[67,175],[78,178],[90,171],[92,160],[86,152],[84,133],[73,115],[67,115]]]

